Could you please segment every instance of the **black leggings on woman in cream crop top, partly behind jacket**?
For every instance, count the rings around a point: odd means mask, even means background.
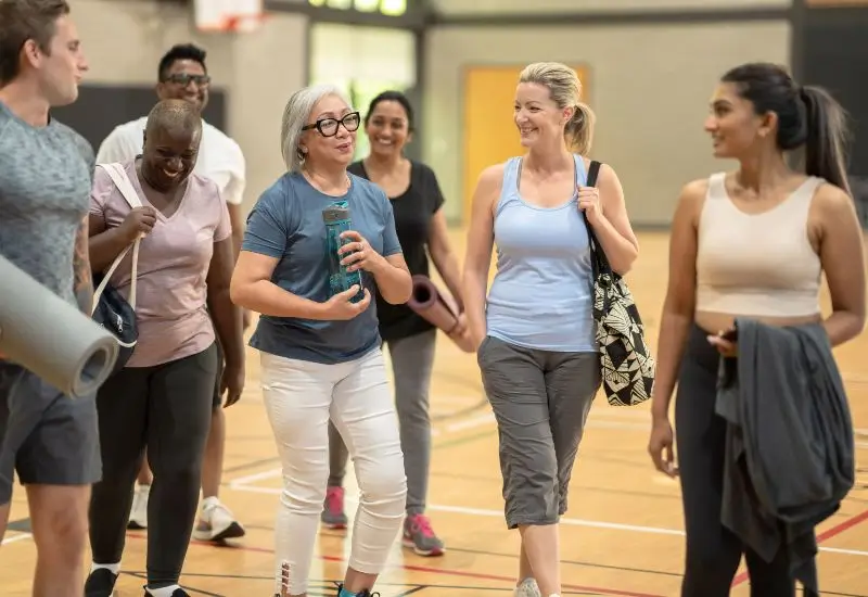
[[[751,576],[752,597],[793,597],[795,581],[786,550],[766,562],[720,522],[726,422],[714,412],[719,354],[706,336],[707,332],[693,326],[681,360],[675,402],[687,531],[681,597],[729,595],[742,554]]]

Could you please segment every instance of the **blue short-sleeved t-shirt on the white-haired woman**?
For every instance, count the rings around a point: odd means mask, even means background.
[[[349,174],[349,191],[327,195],[301,174],[285,174],[267,189],[247,216],[242,251],[279,259],[271,281],[297,296],[326,303],[329,300],[329,257],[322,211],[346,201],[353,229],[374,251],[387,257],[400,253],[395,218],[386,194],[373,182]],[[365,312],[347,321],[321,321],[294,317],[261,316],[251,346],[265,353],[322,364],[359,358],[381,343],[373,276],[361,271],[371,293]]]

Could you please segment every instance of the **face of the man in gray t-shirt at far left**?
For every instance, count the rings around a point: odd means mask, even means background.
[[[50,105],[68,105],[78,99],[78,84],[88,69],[88,63],[81,51],[78,29],[69,15],[54,22],[54,36],[48,52],[39,50],[33,40],[28,40],[23,50]]]

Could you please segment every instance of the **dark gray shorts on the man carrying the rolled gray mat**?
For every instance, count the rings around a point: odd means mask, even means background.
[[[0,505],[22,484],[90,485],[102,477],[95,396],[72,399],[0,360]]]

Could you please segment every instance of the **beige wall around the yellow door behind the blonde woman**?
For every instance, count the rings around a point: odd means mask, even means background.
[[[461,191],[462,68],[556,60],[590,68],[592,156],[617,172],[633,221],[666,225],[686,181],[729,167],[712,157],[702,128],[718,77],[748,61],[788,64],[790,26],[443,26],[426,45],[423,157],[441,178],[450,220],[470,201]]]

